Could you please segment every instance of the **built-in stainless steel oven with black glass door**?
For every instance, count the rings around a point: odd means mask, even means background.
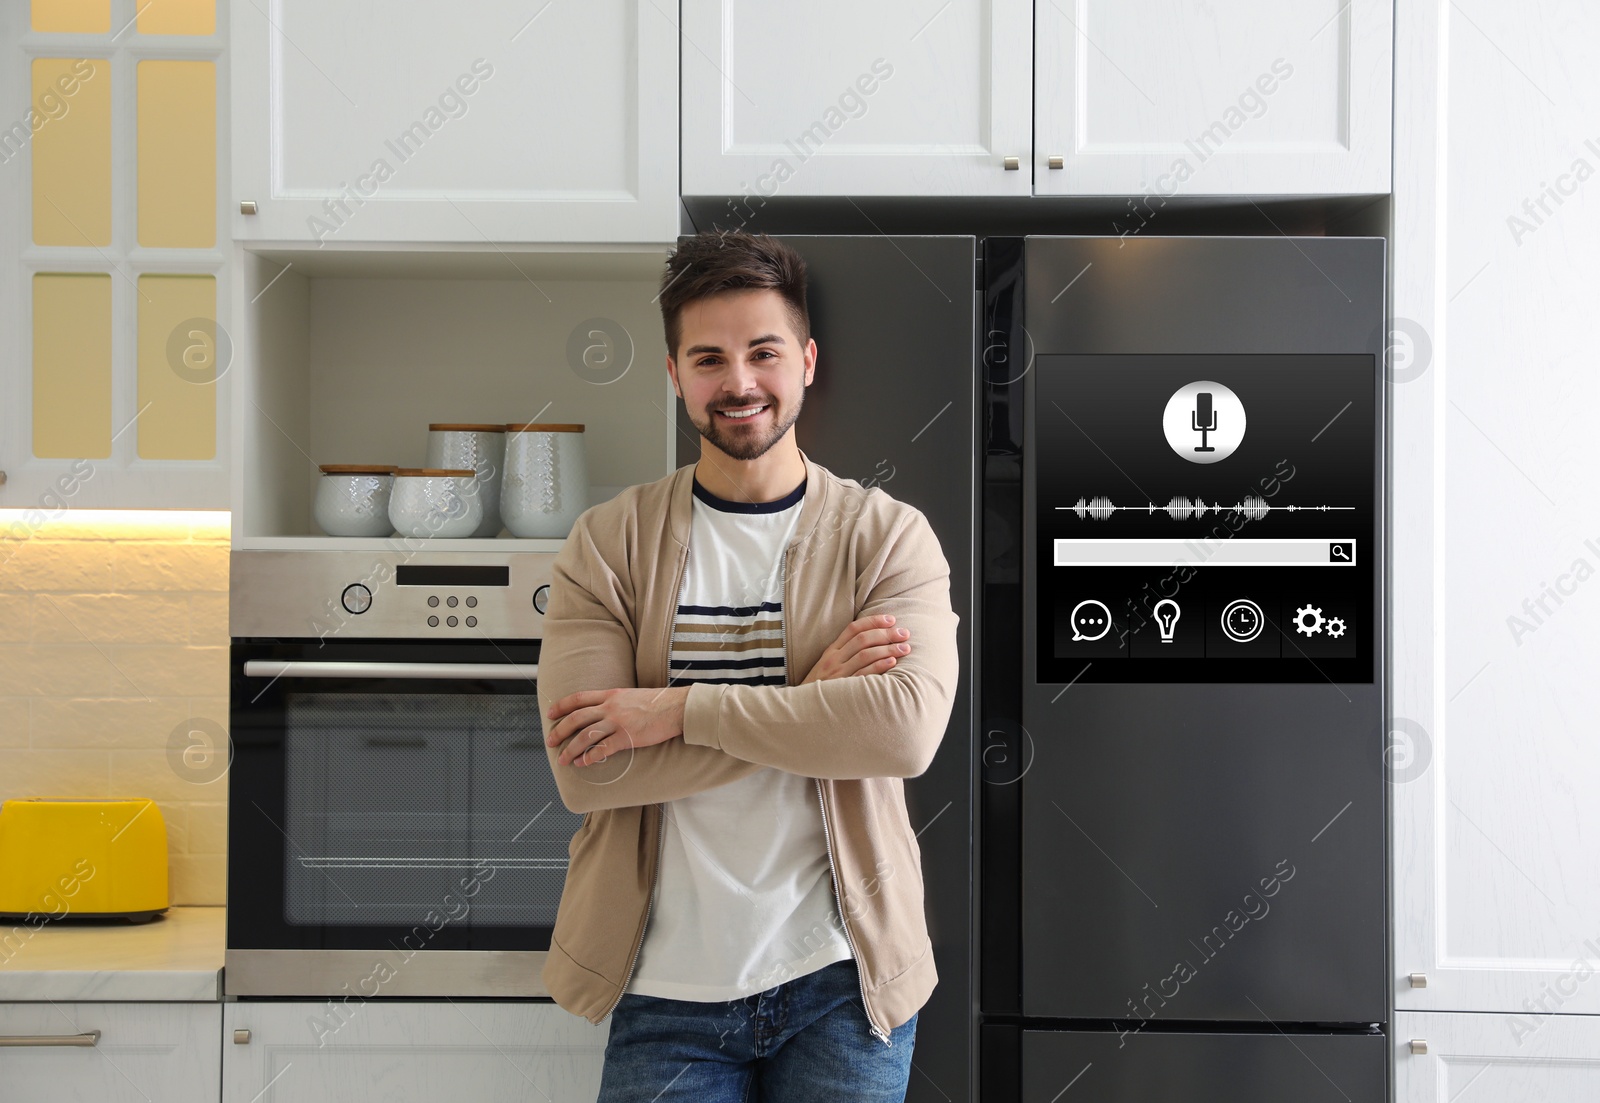
[[[554,556],[232,557],[229,996],[546,996]]]

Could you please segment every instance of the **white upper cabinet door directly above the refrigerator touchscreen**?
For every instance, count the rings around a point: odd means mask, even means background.
[[[1040,195],[1384,194],[1392,0],[1040,0]]]

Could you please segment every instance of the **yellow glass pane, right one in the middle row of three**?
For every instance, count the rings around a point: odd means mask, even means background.
[[[216,245],[216,64],[139,62],[139,245]]]

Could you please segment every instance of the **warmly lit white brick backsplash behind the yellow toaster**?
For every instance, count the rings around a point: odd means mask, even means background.
[[[192,717],[227,727],[227,530],[70,517],[0,546],[0,800],[150,797],[174,904],[226,901],[227,780],[174,772]]]

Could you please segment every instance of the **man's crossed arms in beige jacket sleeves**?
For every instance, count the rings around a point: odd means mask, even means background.
[[[550,714],[558,701],[566,706],[563,716],[574,717],[565,722],[573,730],[547,736],[546,746],[570,810],[675,800],[763,767],[811,778],[917,776],[928,768],[954,703],[958,618],[950,608],[949,564],[920,512],[898,511],[882,544],[856,559],[864,565],[854,580],[854,623],[890,615],[910,634],[912,650],[893,666],[872,664],[867,669],[882,672],[862,677],[829,674],[822,668],[838,658],[829,648],[800,685],[701,682],[688,685],[686,693],[685,687],[672,687],[610,696],[627,701],[630,711],[602,703],[603,693],[586,693],[638,687],[626,583],[598,554],[582,522],[555,560],[539,656],[539,708],[547,733],[557,727]],[[797,660],[795,636],[792,631],[790,661]],[[582,706],[574,708],[573,695],[582,695]],[[637,724],[654,711],[651,724],[659,727],[659,719],[677,708],[682,735],[648,746],[613,722],[626,714]],[[616,732],[605,744],[610,757],[589,765],[562,762],[563,744],[592,724]]]

